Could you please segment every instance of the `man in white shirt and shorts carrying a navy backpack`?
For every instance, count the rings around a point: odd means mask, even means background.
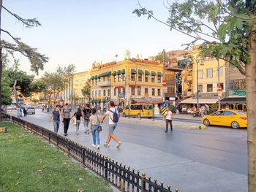
[[[116,136],[114,135],[114,130],[116,129],[117,122],[118,122],[118,111],[115,109],[115,104],[113,101],[109,102],[109,109],[105,113],[105,115],[102,116],[102,123],[105,117],[108,115],[109,120],[108,120],[108,141],[105,142],[105,146],[109,147],[110,145],[110,140],[113,139],[116,142],[116,147],[120,147],[121,141],[118,141]]]

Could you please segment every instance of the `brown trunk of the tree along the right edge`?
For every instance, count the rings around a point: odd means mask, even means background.
[[[248,117],[248,191],[256,192],[256,41],[249,36],[250,63],[246,64],[246,104]]]

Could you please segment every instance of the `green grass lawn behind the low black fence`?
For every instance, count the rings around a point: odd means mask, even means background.
[[[0,133],[0,191],[112,191],[101,177],[86,171],[41,137],[20,126]]]

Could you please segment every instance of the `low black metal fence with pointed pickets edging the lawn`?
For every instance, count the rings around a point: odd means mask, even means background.
[[[68,155],[75,158],[77,161],[82,163],[87,168],[104,177],[105,180],[110,182],[112,185],[119,188],[121,191],[154,191],[154,192],[170,192],[170,185],[167,188],[164,183],[157,183],[157,180],[151,180],[151,177],[146,177],[145,173],[135,172],[135,169],[130,169],[129,166],[118,164],[108,156],[101,155],[94,150],[91,150],[83,145],[73,142],[67,137],[62,137],[53,131],[37,126],[33,123],[27,122],[26,120],[16,118],[4,113],[1,113],[1,121],[12,121],[34,134],[47,139],[63,150]],[[178,189],[175,189],[177,192]]]

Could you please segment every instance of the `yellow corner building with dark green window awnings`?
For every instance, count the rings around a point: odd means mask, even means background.
[[[156,61],[127,59],[94,64],[91,69],[91,102],[115,101],[124,107],[129,102],[162,102],[162,64]]]

